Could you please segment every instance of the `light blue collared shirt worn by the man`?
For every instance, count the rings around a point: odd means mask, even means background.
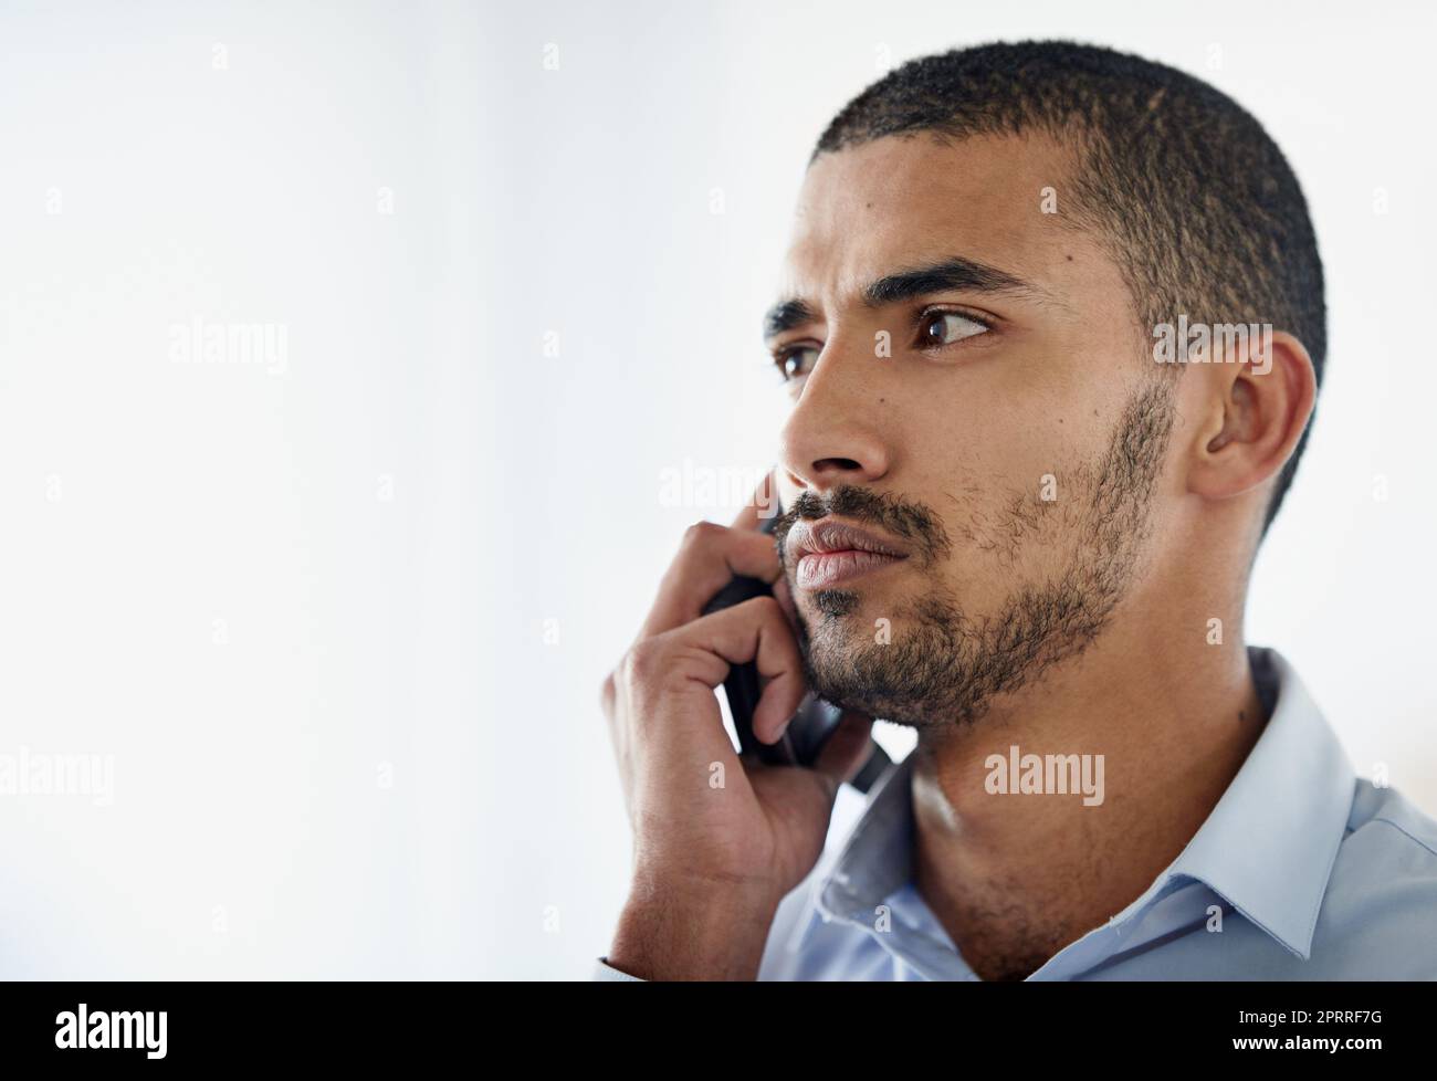
[[[1437,821],[1357,778],[1280,654],[1249,657],[1270,717],[1207,821],[1141,897],[1027,979],[1437,979]],[[846,842],[783,898],[759,979],[979,979],[912,884],[911,768],[888,770]],[[634,979],[604,959],[593,978]]]

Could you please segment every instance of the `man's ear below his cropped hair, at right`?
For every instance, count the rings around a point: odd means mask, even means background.
[[[1275,477],[1292,456],[1312,415],[1316,372],[1302,342],[1280,331],[1201,368],[1206,401],[1188,490],[1229,499]]]

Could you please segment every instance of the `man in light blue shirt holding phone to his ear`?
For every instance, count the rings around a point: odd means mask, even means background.
[[[1326,351],[1262,126],[1106,49],[915,60],[819,139],[787,275],[775,538],[691,529],[604,687],[635,860],[596,975],[1437,978],[1437,824],[1243,638]],[[775,598],[700,617],[734,574]],[[750,660],[764,742],[844,707],[813,769],[734,756]],[[821,862],[872,717],[917,748]]]

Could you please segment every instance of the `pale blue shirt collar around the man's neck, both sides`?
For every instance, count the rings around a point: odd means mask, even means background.
[[[1206,883],[1283,947],[1308,959],[1318,910],[1346,828],[1355,773],[1292,666],[1249,647],[1267,724],[1207,821],[1127,910],[1147,908],[1177,877]],[[803,937],[831,919],[872,921],[912,880],[912,756],[879,781],[832,870],[816,886]]]

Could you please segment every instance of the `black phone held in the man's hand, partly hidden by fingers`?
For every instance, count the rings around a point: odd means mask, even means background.
[[[777,522],[779,516],[770,515],[762,520],[759,529],[764,533],[772,533]],[[734,575],[708,601],[704,607],[704,615],[772,592],[769,585],[759,578]],[[803,699],[799,712],[789,722],[782,739],[777,743],[760,743],[757,736],[753,735],[753,712],[759,706],[759,694],[762,691],[759,666],[753,661],[730,666],[729,678],[724,680],[723,690],[729,699],[729,714],[733,717],[734,735],[739,737],[739,753],[753,755],[767,765],[813,765],[823,749],[823,743],[833,735],[833,729],[842,716],[842,710],[836,706],[810,693]],[[869,740],[868,758],[849,783],[859,792],[868,792],[891,765],[892,760],[884,749]]]

